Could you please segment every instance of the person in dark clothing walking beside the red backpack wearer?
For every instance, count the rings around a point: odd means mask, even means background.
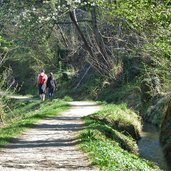
[[[47,85],[47,89],[48,89],[48,96],[49,96],[49,98],[52,98],[54,95],[54,92],[56,90],[56,86],[57,86],[56,80],[55,80],[52,72],[48,76],[46,85]]]

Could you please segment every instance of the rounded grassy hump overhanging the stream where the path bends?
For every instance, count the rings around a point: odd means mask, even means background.
[[[136,132],[139,133],[142,128],[140,117],[133,110],[128,109],[126,104],[105,105],[100,112],[91,117],[119,129],[126,135],[132,135],[133,138],[136,138]]]

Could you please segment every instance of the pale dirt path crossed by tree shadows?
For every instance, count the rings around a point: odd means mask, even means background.
[[[27,130],[17,142],[0,150],[0,171],[98,170],[78,147],[81,117],[100,109],[91,102],[71,102],[71,109]]]

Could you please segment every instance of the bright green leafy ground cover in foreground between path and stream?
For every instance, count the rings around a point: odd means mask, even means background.
[[[94,134],[97,132],[94,131]],[[86,134],[86,137],[88,135]],[[113,171],[136,171],[136,170],[160,170],[152,163],[142,160],[137,156],[130,154],[117,145],[113,145],[113,142],[109,140],[98,139],[84,139],[85,144],[82,148],[89,152],[91,155],[93,164],[98,165],[101,170],[113,170]]]

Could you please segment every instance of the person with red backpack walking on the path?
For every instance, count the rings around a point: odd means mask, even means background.
[[[45,74],[45,70],[42,70],[41,73],[38,75],[38,78],[37,78],[39,95],[40,95],[40,99],[42,101],[45,100],[47,78],[48,77]]]

